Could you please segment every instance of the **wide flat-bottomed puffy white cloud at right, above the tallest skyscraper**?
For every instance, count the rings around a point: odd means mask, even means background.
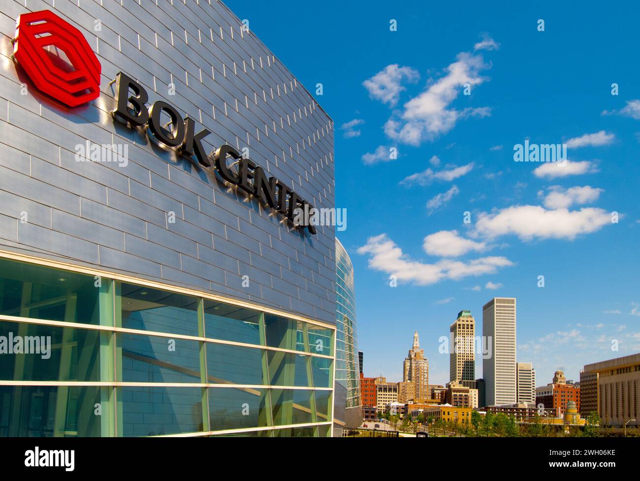
[[[523,241],[568,239],[596,232],[611,224],[611,214],[604,209],[547,210],[540,205],[514,205],[497,212],[479,214],[475,233],[493,238],[513,234]]]

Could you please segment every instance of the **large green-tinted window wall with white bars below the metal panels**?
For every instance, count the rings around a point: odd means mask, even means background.
[[[335,329],[0,258],[0,436],[328,436]]]

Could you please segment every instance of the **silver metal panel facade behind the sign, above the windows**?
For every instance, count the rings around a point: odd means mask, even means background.
[[[68,109],[12,60],[15,20],[51,10],[102,65],[100,97]],[[335,323],[335,232],[282,221],[145,132],[114,120],[120,71],[317,208],[334,207],[333,123],[216,0],[6,0],[0,6],[1,249],[195,287]],[[52,52],[56,54],[56,52]],[[76,160],[86,141],[128,161]],[[175,218],[175,221],[172,222]],[[249,284],[243,287],[243,276]],[[246,284],[246,282],[245,282]]]

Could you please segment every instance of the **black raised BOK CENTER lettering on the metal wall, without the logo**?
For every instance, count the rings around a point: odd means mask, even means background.
[[[134,128],[148,128],[161,145],[177,148],[178,152],[186,157],[195,155],[200,165],[207,170],[218,171],[225,182],[255,196],[262,205],[277,210],[294,225],[306,227],[309,233],[316,233],[312,222],[316,209],[296,194],[291,187],[275,177],[268,177],[262,167],[230,145],[221,146],[218,150],[211,152],[210,157],[202,146],[202,139],[211,133],[209,130],[202,129],[196,134],[193,119],[189,116],[183,119],[175,107],[163,100],[157,100],[152,106],[147,107],[149,99],[147,91],[122,72],[116,75],[115,84],[111,114],[116,119]],[[166,123],[171,126],[170,130],[163,126],[162,113],[170,118],[170,122]],[[228,165],[228,158],[232,159],[234,164],[238,164],[237,170]]]

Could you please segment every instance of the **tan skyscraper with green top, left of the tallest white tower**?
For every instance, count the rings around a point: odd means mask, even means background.
[[[462,310],[458,319],[449,326],[451,352],[449,354],[449,381],[476,379],[476,320],[471,311]]]

